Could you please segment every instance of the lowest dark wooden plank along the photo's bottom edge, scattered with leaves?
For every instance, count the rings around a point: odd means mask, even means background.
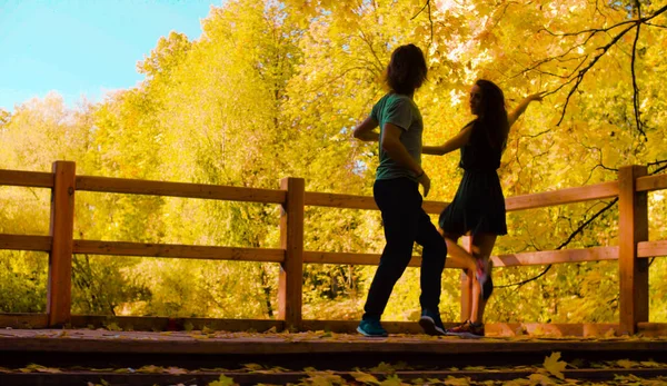
[[[344,358],[348,359],[348,358]],[[446,360],[442,358],[442,360]],[[339,364],[337,364],[339,367]],[[322,368],[320,368],[322,370]],[[404,385],[411,384],[436,384],[436,385],[474,385],[479,382],[485,385],[496,385],[498,382],[514,380],[516,385],[528,385],[528,378],[536,374],[537,368],[509,368],[509,369],[482,369],[482,370],[391,370],[391,372],[367,372],[369,376],[378,379],[378,384],[399,384],[396,378],[401,380]],[[187,372],[187,370],[185,370]],[[619,376],[631,377],[633,384],[638,385],[638,382],[647,380],[651,385],[658,385],[657,377],[667,375],[667,368],[578,368],[565,369],[561,372],[567,379],[587,379],[596,380],[595,385],[606,385],[599,380],[615,380]],[[351,384],[356,385],[356,374],[345,370],[327,370],[322,373],[328,377],[336,377],[342,382],[335,384]],[[225,376],[233,380],[235,385],[308,385],[315,384],[311,379],[313,372],[282,370],[278,372],[190,372],[182,374],[166,373],[129,373],[127,368],[120,368],[118,373],[107,372],[90,372],[90,370],[68,370],[62,369],[59,373],[0,373],[0,383],[3,385],[13,386],[51,386],[51,385],[126,385],[126,386],[145,386],[145,385],[209,385],[215,384]],[[524,379],[522,379],[524,378]],[[643,379],[644,378],[644,379]],[[390,379],[385,382],[386,379]],[[429,379],[425,383],[424,379]],[[439,380],[438,380],[439,379]],[[524,380],[522,383],[517,379]],[[651,380],[648,380],[651,379]],[[575,384],[580,384],[574,380]],[[412,382],[412,383],[408,383]],[[472,382],[472,383],[470,383]],[[323,383],[322,383],[323,384]],[[327,385],[334,383],[328,382]],[[589,384],[589,383],[585,383]],[[583,384],[583,385],[585,385]],[[557,385],[551,383],[550,385]],[[660,384],[661,385],[661,384]]]

